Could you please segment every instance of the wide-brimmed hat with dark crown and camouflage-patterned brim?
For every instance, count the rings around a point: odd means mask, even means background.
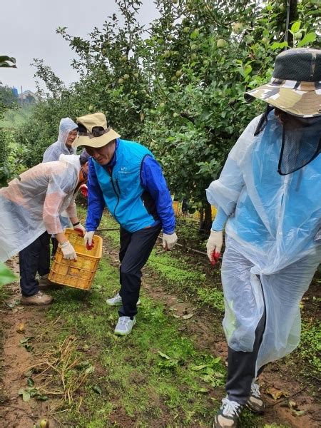
[[[321,116],[321,51],[296,48],[275,59],[270,83],[245,93],[245,100],[263,100],[294,116]]]

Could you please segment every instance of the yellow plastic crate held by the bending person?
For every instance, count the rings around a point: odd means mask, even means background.
[[[99,260],[101,260],[103,238],[94,235],[94,247],[87,250],[83,238],[75,230],[66,229],[65,235],[76,251],[77,261],[64,259],[63,253],[58,247],[49,273],[49,280],[56,284],[88,290],[91,287]]]

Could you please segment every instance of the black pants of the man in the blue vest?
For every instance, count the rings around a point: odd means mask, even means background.
[[[160,232],[161,225],[141,229],[134,233],[121,228],[121,249],[119,250],[121,290],[119,294],[123,305],[118,311],[121,317],[133,318],[137,313],[136,303],[141,288],[141,270],[147,262]]]

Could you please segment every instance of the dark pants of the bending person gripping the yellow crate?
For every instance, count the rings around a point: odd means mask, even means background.
[[[20,287],[22,295],[33,296],[39,291],[36,273],[50,271],[50,235],[45,232],[19,253]]]

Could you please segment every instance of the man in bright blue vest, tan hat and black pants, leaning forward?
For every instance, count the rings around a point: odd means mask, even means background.
[[[159,233],[163,229],[165,250],[172,250],[177,241],[172,198],[161,166],[148,148],[122,140],[107,127],[103,113],[82,116],[77,123],[73,146],[85,146],[91,156],[85,242],[90,248],[107,206],[121,225],[121,289],[107,303],[121,306],[115,334],[129,335],[136,324],[141,269]]]

